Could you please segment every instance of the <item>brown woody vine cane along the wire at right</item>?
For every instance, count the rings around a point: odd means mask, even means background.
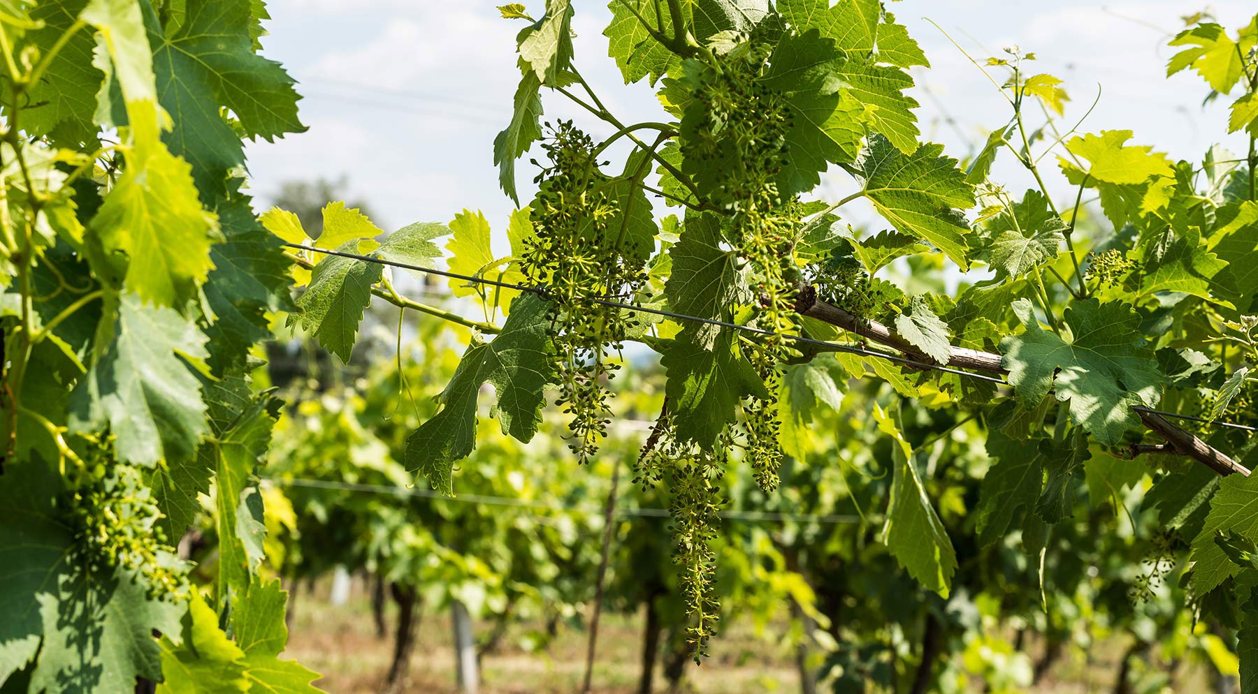
[[[903,352],[916,360],[933,361],[926,355],[922,355],[921,351],[905,341],[905,338],[896,334],[896,332],[889,327],[883,326],[877,321],[866,321],[837,306],[818,299],[816,290],[813,287],[804,287],[800,290],[799,299],[795,303],[795,311],[804,316],[816,318],[818,321],[837,326],[850,333]],[[1009,371],[1000,363],[1000,355],[982,352],[979,350],[969,350],[965,347],[950,347],[947,362],[941,366],[972,368],[975,371],[999,373],[1001,376],[1009,373]],[[1230,475],[1234,473],[1239,473],[1245,476],[1249,475],[1248,468],[1237,463],[1214,446],[1210,446],[1201,439],[1198,439],[1191,432],[1175,426],[1166,417],[1144,407],[1133,407],[1133,410],[1136,415],[1140,416],[1140,420],[1145,424],[1145,426],[1165,439],[1166,444],[1161,446],[1132,446],[1130,449],[1132,454],[1160,453],[1186,455],[1220,475]]]

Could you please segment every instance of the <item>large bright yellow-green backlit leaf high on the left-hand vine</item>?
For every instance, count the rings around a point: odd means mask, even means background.
[[[210,246],[221,238],[190,171],[161,146],[135,151],[91,225],[106,253],[126,258],[126,287],[161,306],[196,298],[214,268]]]

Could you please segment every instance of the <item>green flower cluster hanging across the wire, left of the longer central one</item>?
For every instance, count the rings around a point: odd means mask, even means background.
[[[598,299],[633,295],[645,275],[642,262],[621,253],[621,214],[606,192],[590,136],[560,121],[542,145],[543,166],[533,204],[536,236],[526,241],[521,265],[528,283],[545,288],[552,306],[551,341],[557,355],[559,405],[572,415],[569,446],[585,463],[606,436],[611,391],[606,381],[619,365],[608,358],[620,350],[630,317]]]

